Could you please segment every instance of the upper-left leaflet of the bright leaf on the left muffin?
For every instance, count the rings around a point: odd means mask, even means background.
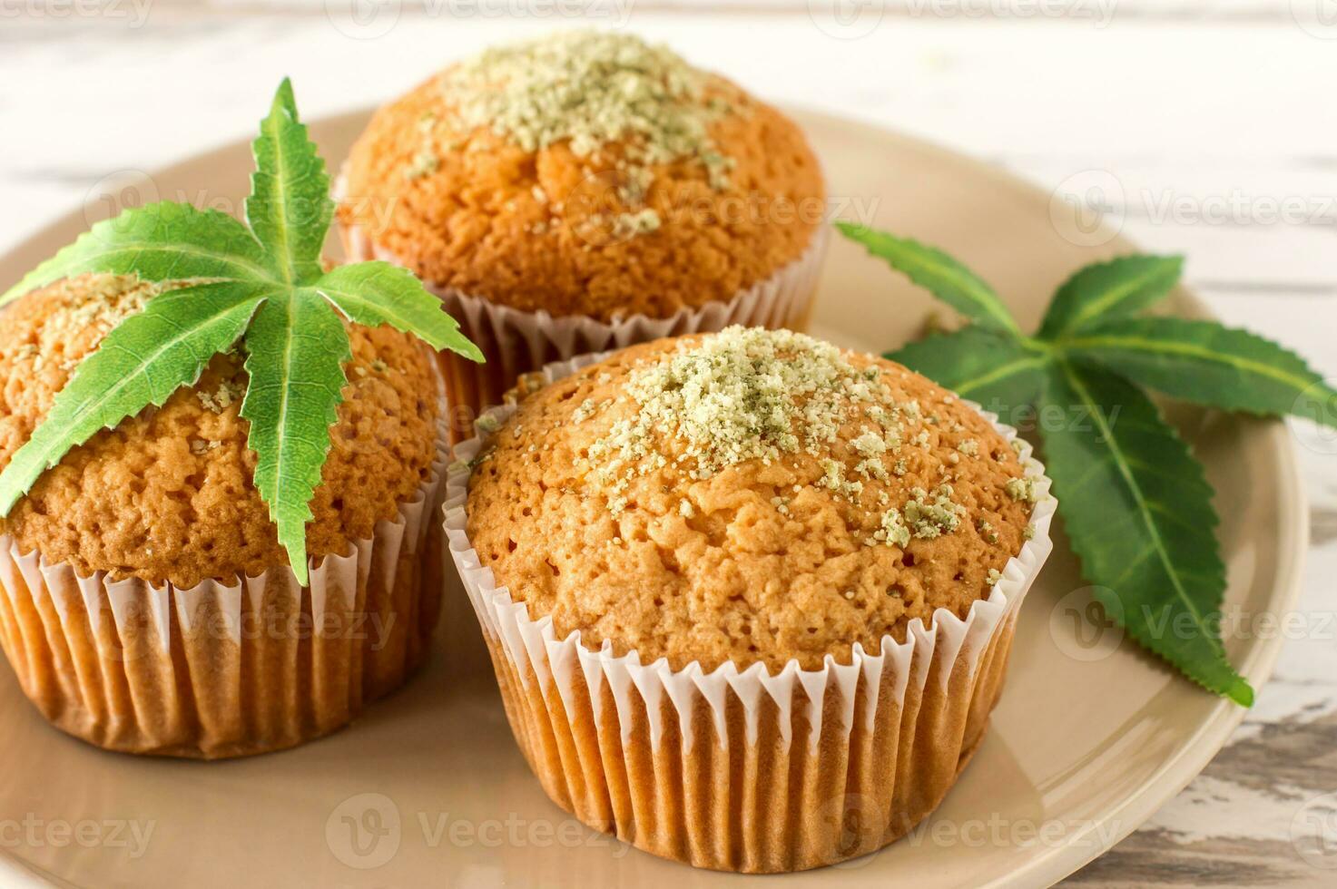
[[[134,274],[166,283],[211,278],[274,285],[265,250],[237,219],[189,203],[151,203],[99,222],[9,287],[0,305],[62,278]]]

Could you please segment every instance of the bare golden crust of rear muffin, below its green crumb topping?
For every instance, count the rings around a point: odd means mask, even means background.
[[[628,202],[623,146],[582,156],[568,142],[531,151],[487,127],[461,134],[437,76],[353,146],[338,218],[425,281],[524,311],[662,318],[730,299],[804,254],[825,186],[789,118],[717,76],[710,100],[733,108],[710,124],[729,184],[691,160],[652,163],[644,199]],[[424,120],[441,123],[424,134]],[[414,167],[422,156],[431,170]],[[620,227],[644,209],[652,230]]]

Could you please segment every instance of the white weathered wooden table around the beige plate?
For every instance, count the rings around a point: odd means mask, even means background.
[[[0,0],[0,250],[108,175],[249,136],[282,75],[317,116],[583,9],[767,98],[1096,194],[1146,249],[1186,253],[1227,322],[1337,377],[1334,0],[846,0],[836,17],[808,0],[357,1]],[[1230,746],[1074,885],[1337,880],[1293,845],[1305,803],[1337,790],[1337,630],[1321,619],[1337,611],[1337,459],[1298,451],[1301,608],[1326,630],[1288,642]]]

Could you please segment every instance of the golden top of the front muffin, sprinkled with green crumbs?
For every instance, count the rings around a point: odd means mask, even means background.
[[[964,618],[1035,483],[975,409],[802,334],[659,340],[539,389],[475,463],[468,535],[559,638],[713,670]]]

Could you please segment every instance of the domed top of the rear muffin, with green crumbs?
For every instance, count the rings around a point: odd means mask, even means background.
[[[808,247],[802,132],[631,35],[489,49],[381,108],[338,210],[424,279],[525,311],[667,317]]]

